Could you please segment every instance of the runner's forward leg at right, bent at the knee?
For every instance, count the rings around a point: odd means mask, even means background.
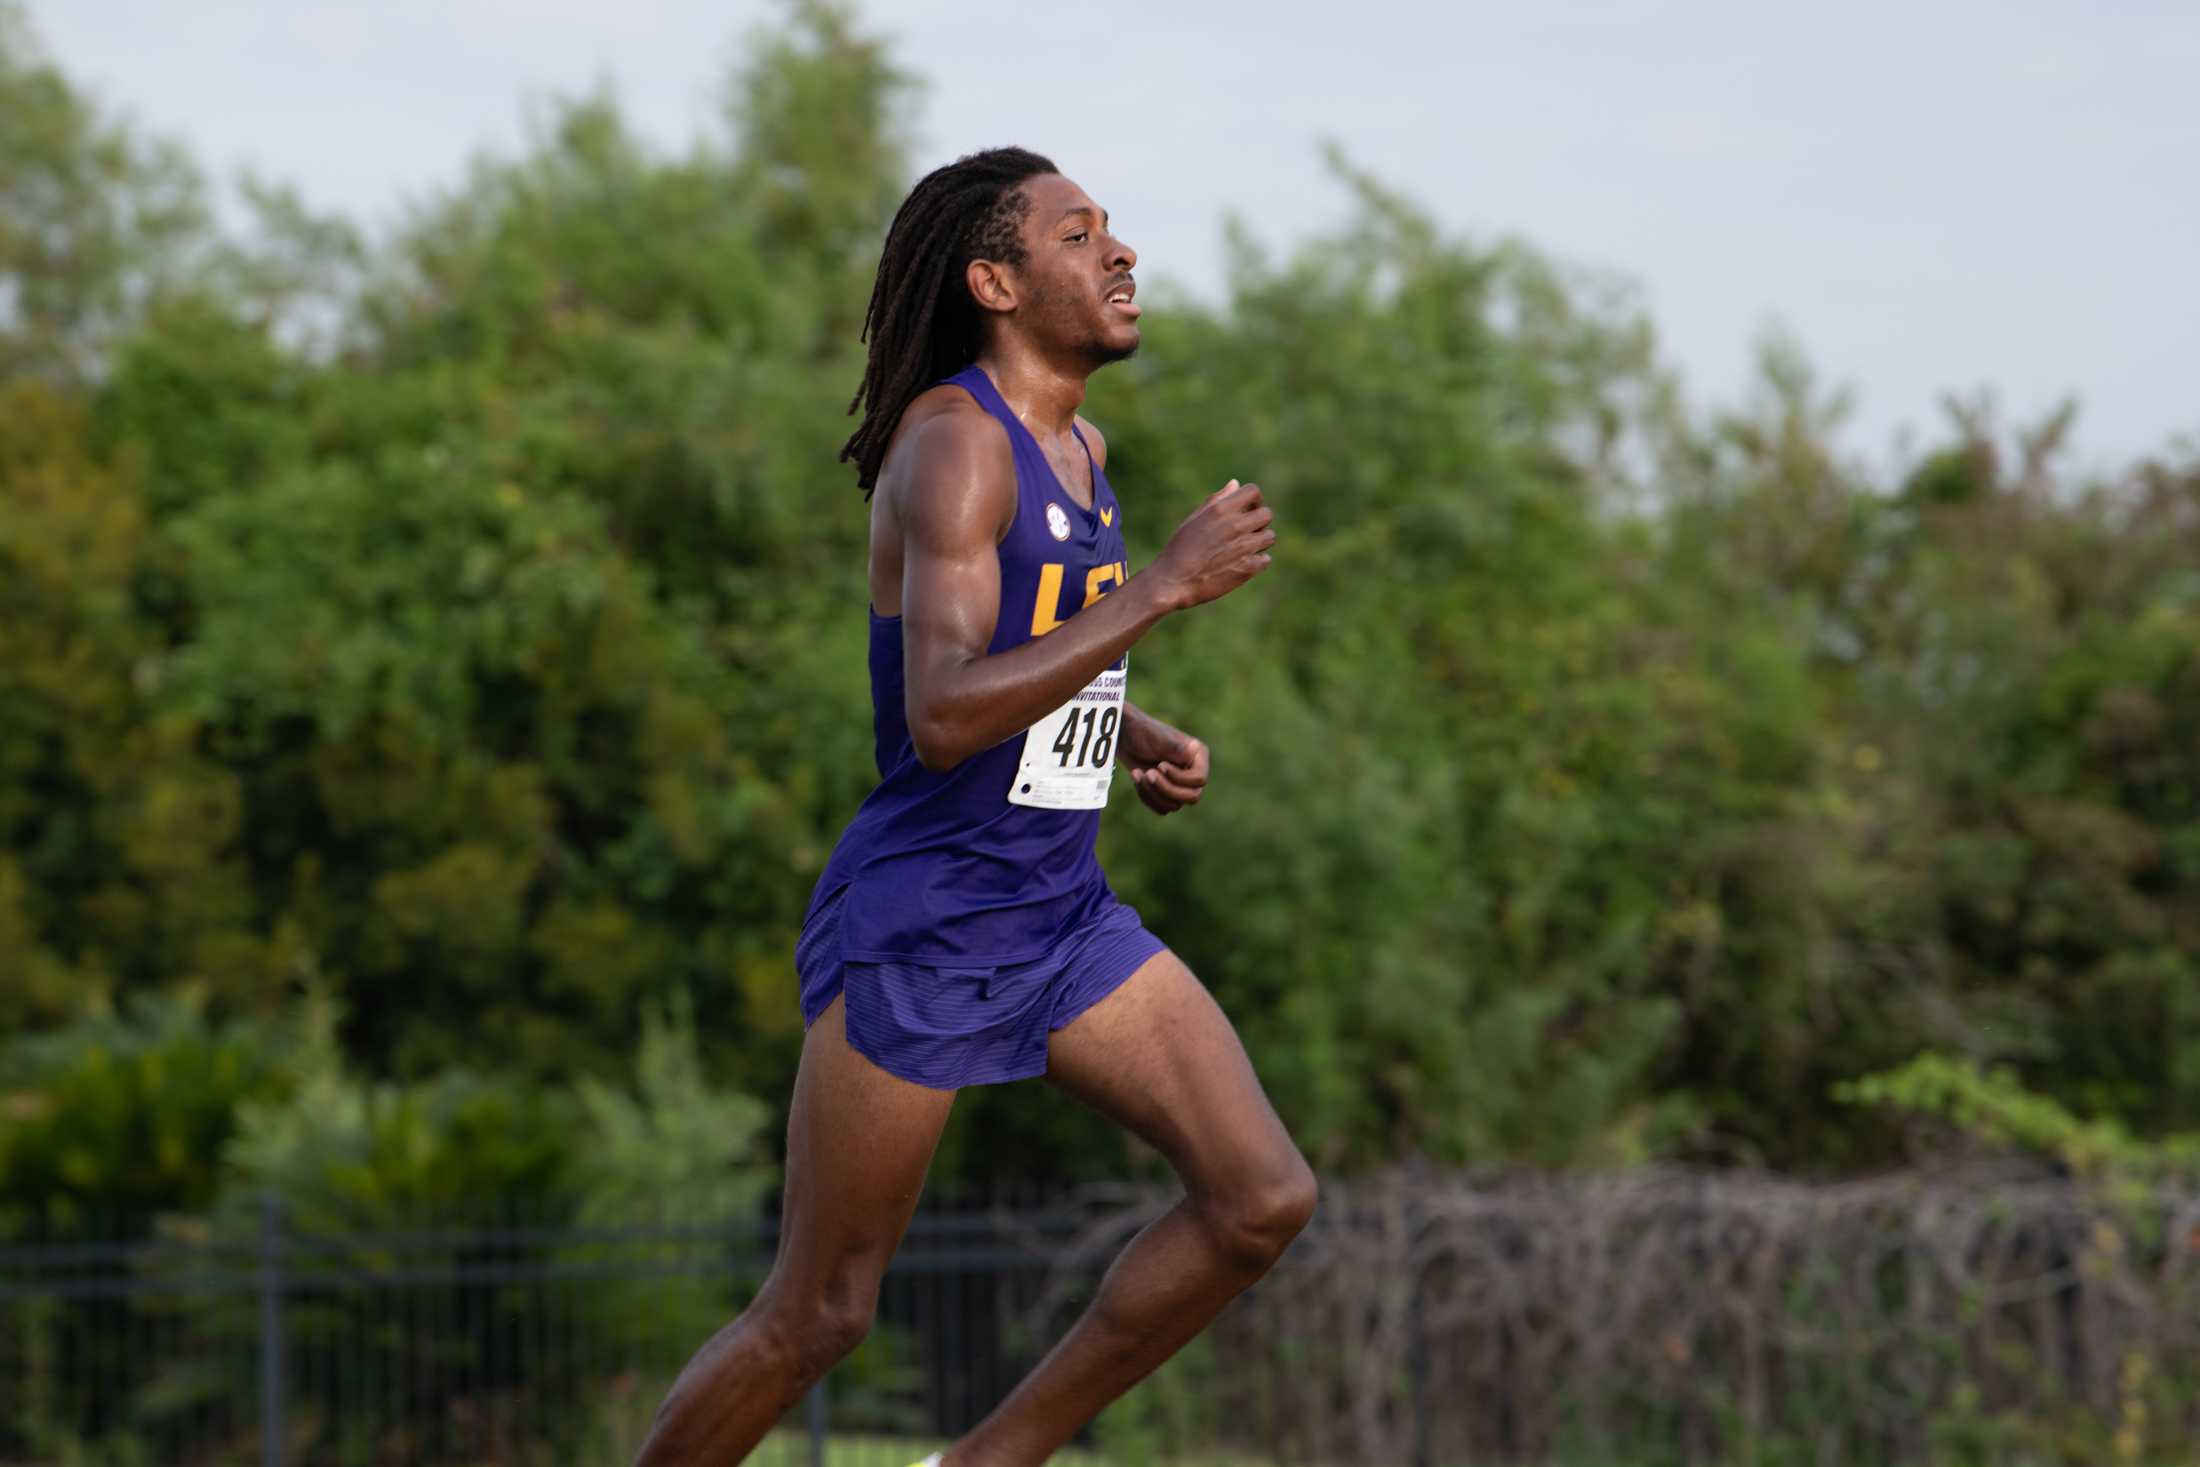
[[[1056,1032],[1047,1080],[1151,1141],[1186,1196],[1100,1282],[1091,1309],[946,1467],[1036,1467],[1175,1355],[1313,1216],[1313,1172],[1245,1047],[1177,955],[1148,959]]]

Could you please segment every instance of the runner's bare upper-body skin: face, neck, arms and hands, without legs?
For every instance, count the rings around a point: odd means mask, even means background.
[[[1038,442],[1054,477],[1091,506],[1091,462],[1071,424],[1091,365],[1137,350],[1137,251],[1107,213],[1058,174],[1027,185],[1025,264],[972,262],[983,310],[1016,315],[979,365]],[[1085,361],[1078,361],[1085,356]],[[1065,372],[1065,359],[1069,369]],[[1098,361],[1093,361],[1098,359]],[[1107,440],[1087,427],[1093,460]],[[871,495],[871,605],[902,616],[911,741],[926,768],[948,770],[1023,732],[1111,666],[1170,611],[1223,596],[1267,567],[1274,515],[1258,484],[1232,479],[1195,510],[1159,559],[1065,625],[986,655],[999,614],[994,554],[1016,512],[1008,433],[959,387],[933,387],[902,413]],[[1126,710],[1124,761],[1155,809],[1199,798],[1206,746],[1142,710]]]

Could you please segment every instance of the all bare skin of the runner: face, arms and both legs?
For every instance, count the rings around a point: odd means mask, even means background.
[[[1085,378],[1137,348],[1137,308],[1126,301],[1137,255],[1067,178],[1041,174],[1023,189],[1025,260],[977,260],[966,273],[990,317],[977,361],[1060,484],[1091,506],[1091,468],[1071,429]],[[1104,464],[1107,442],[1082,427],[1091,462]],[[1023,732],[1164,616],[1261,574],[1276,543],[1261,488],[1232,479],[1153,565],[1047,636],[988,653],[1014,508],[1003,427],[961,389],[917,396],[871,497],[869,581],[873,609],[902,616],[904,710],[933,770]],[[1159,814],[1206,790],[1206,743],[1137,708],[1126,706],[1120,748]],[[1228,1016],[1177,955],[1157,952],[1054,1032],[1047,1065],[1049,1084],[1159,1150],[1186,1196],[1131,1240],[1087,1313],[946,1449],[946,1467],[1045,1463],[1265,1273],[1313,1212],[1313,1172]],[[856,1348],[953,1102],[860,1056],[840,999],[810,1025],[788,1122],[779,1258],[748,1311],[680,1372],[636,1467],[739,1463]]]

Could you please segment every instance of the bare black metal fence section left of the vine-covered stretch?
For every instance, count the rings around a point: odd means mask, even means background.
[[[755,1458],[906,1467],[1043,1348],[1071,1210],[931,1205],[871,1339]],[[770,1221],[502,1216],[251,1236],[169,1223],[0,1247],[0,1465],[627,1463],[748,1300]]]

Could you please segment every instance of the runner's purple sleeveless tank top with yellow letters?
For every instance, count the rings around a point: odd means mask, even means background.
[[[1129,576],[1122,508],[1100,464],[1093,464],[1093,506],[1080,508],[1069,497],[983,367],[964,367],[946,380],[994,416],[1016,455],[1016,517],[1001,539],[1001,607],[988,647],[1001,653],[1122,585]],[[856,812],[810,895],[816,913],[847,891],[845,961],[1023,963],[1113,900],[1093,851],[1098,809],[1008,801],[1021,732],[939,774],[917,761],[902,704],[902,618],[878,611],[871,611],[871,728],[878,790]]]

